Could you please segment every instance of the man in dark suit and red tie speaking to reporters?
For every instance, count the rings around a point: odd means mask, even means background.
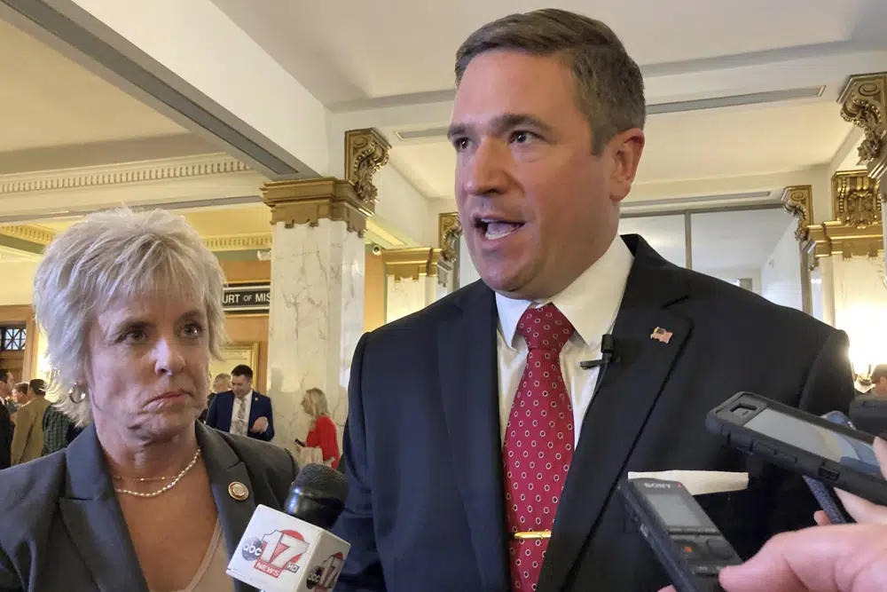
[[[616,35],[513,15],[463,43],[456,75],[456,201],[483,281],[357,345],[337,589],[661,588],[614,493],[628,471],[748,473],[746,490],[700,497],[743,556],[812,525],[802,479],[704,420],[742,390],[846,409],[846,335],[617,235],[645,101]],[[580,367],[605,334],[613,356]]]

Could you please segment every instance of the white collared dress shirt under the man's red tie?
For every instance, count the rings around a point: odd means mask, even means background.
[[[561,351],[561,372],[573,405],[574,446],[577,446],[585,411],[592,402],[600,370],[583,370],[579,367],[579,362],[600,358],[601,338],[610,333],[616,323],[616,313],[622,304],[633,261],[632,251],[617,235],[600,259],[560,294],[549,300],[530,302],[496,295],[499,426],[503,441],[511,406],[517,394],[517,385],[521,382],[524,367],[527,366],[527,342],[521,335],[515,335],[517,324],[528,306],[539,307],[551,303],[576,328],[576,332]]]

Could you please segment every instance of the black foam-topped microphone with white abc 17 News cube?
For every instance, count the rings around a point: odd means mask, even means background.
[[[227,573],[265,592],[328,592],[339,580],[350,544],[326,531],[345,507],[339,471],[308,464],[289,489],[284,512],[259,505]]]

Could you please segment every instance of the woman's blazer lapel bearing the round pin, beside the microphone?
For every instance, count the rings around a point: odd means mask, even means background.
[[[201,423],[197,424],[197,441],[200,454],[207,467],[209,486],[216,501],[219,520],[222,522],[222,533],[228,556],[237,552],[240,536],[246,532],[249,519],[255,511],[255,491],[247,473],[247,465],[234,454],[231,446],[224,439]],[[239,501],[229,493],[232,483],[245,485],[249,495],[246,500]],[[255,588],[234,580],[237,592],[255,592]]]

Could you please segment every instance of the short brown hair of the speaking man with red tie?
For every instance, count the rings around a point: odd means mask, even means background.
[[[496,50],[563,60],[576,79],[577,107],[591,127],[593,154],[600,154],[616,134],[643,129],[647,106],[640,67],[600,20],[546,8],[487,23],[456,52],[456,84],[472,59]]]

